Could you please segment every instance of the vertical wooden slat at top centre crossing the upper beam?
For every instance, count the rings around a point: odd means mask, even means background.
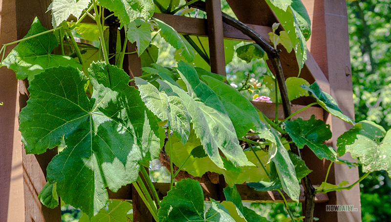
[[[211,71],[225,76],[224,32],[220,0],[206,0]]]

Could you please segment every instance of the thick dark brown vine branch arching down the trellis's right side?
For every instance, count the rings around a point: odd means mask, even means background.
[[[186,0],[186,1],[189,2],[190,0]],[[203,1],[197,1],[189,6],[198,8],[202,11],[206,11],[206,5],[205,2]],[[261,48],[266,52],[269,60],[273,65],[276,79],[280,87],[284,118],[288,118],[291,115],[291,109],[290,109],[290,102],[288,99],[288,91],[286,88],[285,77],[283,75],[282,65],[280,61],[280,55],[279,55],[280,50],[277,50],[273,46],[271,46],[266,40],[264,40],[261,37],[261,35],[259,35],[257,32],[255,32],[253,29],[248,27],[243,22],[236,20],[225,13],[222,13],[222,20],[225,23],[241,31],[244,35],[250,37],[257,44],[259,44]],[[287,140],[292,141],[292,139],[288,135],[287,135]],[[290,143],[289,146],[293,153],[295,153],[298,156],[301,156],[300,150],[295,143]],[[302,184],[304,186],[304,195],[305,195],[305,221],[313,222],[314,207],[315,207],[315,188],[312,186],[308,176],[305,176],[302,179]]]

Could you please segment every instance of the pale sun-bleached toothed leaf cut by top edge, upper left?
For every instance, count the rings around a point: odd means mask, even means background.
[[[52,10],[52,24],[56,28],[63,21],[66,21],[70,15],[74,15],[79,19],[90,2],[91,0],[53,0],[46,12]]]

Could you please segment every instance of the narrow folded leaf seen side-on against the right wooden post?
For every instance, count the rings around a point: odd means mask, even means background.
[[[330,94],[325,93],[321,90],[318,83],[314,82],[309,87],[306,85],[302,85],[302,88],[308,90],[309,95],[316,99],[316,101],[318,101],[318,104],[322,106],[327,112],[331,113],[332,115],[338,117],[343,121],[346,121],[353,125],[355,124],[352,119],[342,113],[334,98],[332,98]]]

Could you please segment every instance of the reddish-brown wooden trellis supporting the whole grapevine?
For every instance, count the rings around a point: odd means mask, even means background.
[[[348,45],[348,20],[345,0],[302,0],[312,21],[312,37],[307,42],[310,53],[301,72],[301,77],[312,83],[317,81],[323,91],[331,94],[340,108],[348,116],[354,116],[352,101],[351,69]],[[51,0],[0,0],[0,44],[22,39],[27,33],[31,21],[38,16],[43,26],[51,27],[50,14],[46,13]],[[271,26],[278,22],[274,13],[262,0],[227,0],[238,19],[264,39],[268,39]],[[155,14],[154,17],[173,26],[184,35],[209,37],[211,70],[225,75],[225,58],[223,39],[250,39],[221,19],[220,0],[206,0],[208,19],[194,19],[166,14]],[[86,20],[88,22],[88,20]],[[134,44],[128,44],[128,51],[134,51]],[[11,47],[7,48],[7,52]],[[297,76],[298,65],[294,52],[287,53],[281,48],[281,61],[285,77]],[[141,62],[136,54],[127,55],[124,67],[130,76],[141,75]],[[273,69],[272,69],[273,70]],[[132,78],[131,77],[131,78]],[[48,209],[41,204],[37,196],[45,184],[46,166],[57,150],[48,150],[42,155],[25,154],[18,131],[18,115],[27,101],[25,81],[17,81],[12,70],[0,69],[0,222],[60,222],[60,207]],[[292,111],[309,104],[309,99],[293,101]],[[253,102],[266,116],[274,118],[275,105]],[[282,106],[279,107],[282,115]],[[309,119],[315,114],[330,124],[333,139],[329,145],[335,146],[336,138],[348,129],[348,124],[332,117],[323,109],[311,107],[297,117]],[[283,117],[281,116],[281,119]],[[303,157],[307,166],[314,172],[309,175],[313,184],[320,184],[326,176],[328,161],[320,161],[312,152],[304,149]],[[340,183],[343,180],[354,182],[358,179],[357,168],[349,169],[345,165],[333,164],[328,181]],[[202,184],[205,199],[221,200],[220,184]],[[169,189],[169,184],[155,183],[157,192],[162,198]],[[238,185],[243,201],[281,202],[277,192],[257,192],[246,185]],[[137,193],[131,186],[125,186],[117,193],[109,192],[109,198],[133,200],[134,219],[141,222],[152,222],[152,217],[138,200]],[[304,201],[304,195],[300,196]],[[340,193],[318,194],[315,200],[315,217],[322,222],[360,222],[361,205],[359,187]],[[354,205],[356,212],[326,212],[326,204]]]

